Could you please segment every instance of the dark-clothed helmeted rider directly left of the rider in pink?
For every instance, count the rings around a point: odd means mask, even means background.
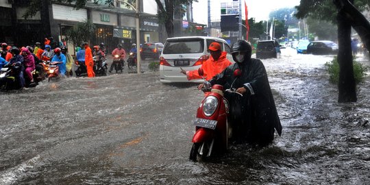
[[[23,56],[19,54],[21,51],[19,51],[18,47],[12,47],[10,49],[10,53],[12,53],[12,58],[10,59],[8,65],[19,67],[18,74],[16,74],[15,77],[18,79],[20,88],[24,88],[25,79],[23,77],[23,71],[25,70],[25,67],[23,66]]]

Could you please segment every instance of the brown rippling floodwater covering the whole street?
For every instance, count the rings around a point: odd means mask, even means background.
[[[188,160],[203,93],[160,83],[147,64],[1,92],[0,184],[368,184],[370,77],[358,102],[337,103],[332,58],[287,48],[263,60],[282,136],[210,162]]]

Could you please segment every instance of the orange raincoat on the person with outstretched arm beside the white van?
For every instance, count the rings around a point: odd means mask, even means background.
[[[227,68],[227,66],[232,64],[232,62],[227,60],[226,54],[226,51],[223,51],[219,60],[214,60],[212,56],[210,56],[210,58],[208,58],[208,60],[201,65],[200,68],[203,69],[206,80],[212,79],[214,75],[221,73]],[[201,76],[198,74],[198,70],[186,71],[186,77],[188,77],[188,80],[201,78]]]

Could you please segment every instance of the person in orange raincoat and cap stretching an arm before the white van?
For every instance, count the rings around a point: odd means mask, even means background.
[[[226,51],[221,50],[221,45],[218,42],[212,42],[210,47],[208,47],[208,51],[210,52],[210,58],[208,58],[208,60],[206,60],[206,62],[204,62],[200,67],[204,71],[203,77],[205,77],[206,80],[212,79],[214,75],[221,73],[225,68],[227,68],[227,66],[232,64],[232,62],[227,60],[227,53]],[[188,80],[201,79],[201,75],[198,74],[198,70],[185,71],[184,69],[181,69],[181,73],[186,75]]]

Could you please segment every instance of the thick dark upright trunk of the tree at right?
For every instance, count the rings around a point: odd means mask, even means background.
[[[345,17],[345,12],[339,10],[338,16],[338,102],[356,102],[356,82],[351,50],[351,23]]]

